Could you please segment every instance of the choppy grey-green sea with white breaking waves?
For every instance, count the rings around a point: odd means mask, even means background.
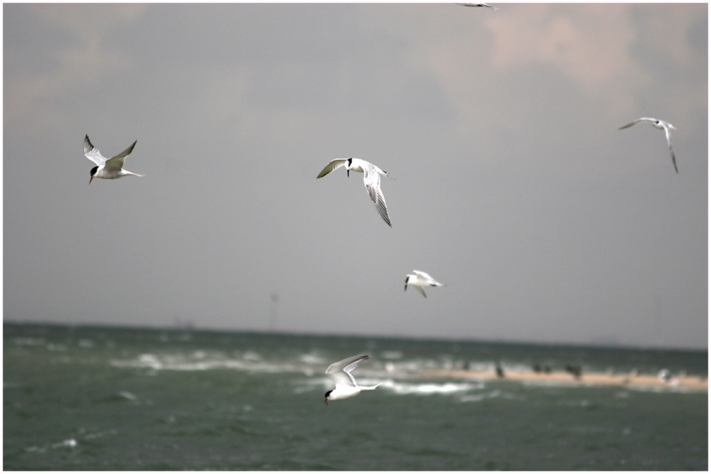
[[[433,377],[707,377],[707,351],[4,323],[4,470],[708,470],[708,393]],[[324,404],[332,362],[373,392]]]

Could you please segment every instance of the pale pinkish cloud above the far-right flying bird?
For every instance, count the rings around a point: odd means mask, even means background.
[[[705,5],[529,4],[492,15],[487,26],[498,70],[552,66],[611,114],[634,115],[641,106],[659,104],[682,115],[692,105],[690,97],[698,103],[705,96],[705,81],[689,84],[683,90],[694,92],[676,97],[654,92],[685,80],[673,71],[698,60],[694,42],[701,35],[695,29],[706,17]]]

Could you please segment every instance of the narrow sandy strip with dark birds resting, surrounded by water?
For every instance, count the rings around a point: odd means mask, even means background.
[[[449,379],[498,379],[494,372],[477,370],[425,370],[420,375],[427,377],[442,377]],[[660,389],[688,389],[708,392],[708,379],[695,375],[673,376],[669,382],[656,375],[648,374],[606,374],[603,372],[583,372],[579,378],[573,377],[568,372],[506,372],[501,380],[515,380],[517,382],[555,383],[568,385],[609,385],[619,387],[660,388]]]

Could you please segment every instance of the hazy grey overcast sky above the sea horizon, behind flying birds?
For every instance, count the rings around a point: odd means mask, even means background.
[[[707,4],[496,6],[4,4],[4,321],[706,350]]]

